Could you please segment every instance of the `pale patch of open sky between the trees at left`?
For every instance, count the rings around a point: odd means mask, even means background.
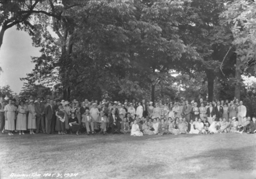
[[[32,72],[34,64],[31,56],[40,56],[40,48],[32,46],[31,36],[24,31],[17,31],[13,26],[4,33],[0,49],[0,86],[10,85],[13,92],[19,94],[24,81],[21,77]]]

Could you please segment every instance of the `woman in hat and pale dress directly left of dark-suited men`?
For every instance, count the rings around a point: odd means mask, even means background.
[[[36,111],[35,111],[34,100],[29,100],[28,112],[29,112],[28,114],[29,134],[35,134],[34,130],[36,129]]]

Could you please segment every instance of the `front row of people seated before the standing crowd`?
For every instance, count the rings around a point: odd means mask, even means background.
[[[86,128],[86,132],[90,134],[94,133],[95,128],[100,128],[100,134],[106,134],[106,130],[111,128],[111,132],[114,134],[131,134],[131,136],[143,136],[143,135],[164,135],[164,134],[216,134],[216,133],[227,133],[227,132],[239,132],[239,133],[256,133],[256,118],[244,117],[244,125],[239,125],[236,117],[227,121],[223,120],[216,121],[215,117],[213,122],[209,123],[207,118],[195,118],[195,121],[191,120],[190,123],[186,122],[186,118],[166,118],[159,119],[154,118],[136,118],[133,120],[131,115],[128,113],[127,118],[123,120],[116,115],[115,111],[111,111],[111,115],[106,117],[103,111],[100,111],[100,115],[97,120],[93,120],[90,116],[89,110],[86,110],[83,115],[83,127]],[[73,130],[72,130],[73,131]]]

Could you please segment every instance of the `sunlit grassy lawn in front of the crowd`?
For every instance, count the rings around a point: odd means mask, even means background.
[[[256,178],[256,134],[0,134],[0,144],[1,178]]]

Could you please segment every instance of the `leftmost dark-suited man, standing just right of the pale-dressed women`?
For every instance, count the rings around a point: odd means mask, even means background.
[[[35,111],[36,111],[36,133],[39,133],[40,124],[42,128],[42,132],[45,133],[45,125],[44,125],[44,104],[41,102],[41,98],[37,98],[37,102],[35,102]]]

